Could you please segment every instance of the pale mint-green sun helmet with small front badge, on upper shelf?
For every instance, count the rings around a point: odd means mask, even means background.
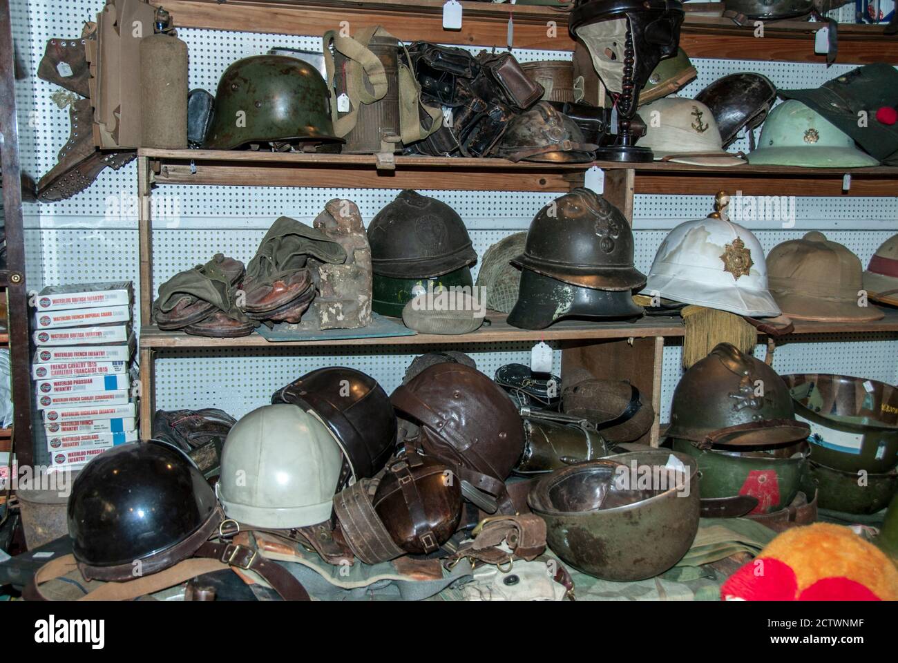
[[[861,152],[851,137],[823,115],[790,99],[770,110],[758,148],[748,155],[753,165],[808,168],[859,168],[879,164]]]

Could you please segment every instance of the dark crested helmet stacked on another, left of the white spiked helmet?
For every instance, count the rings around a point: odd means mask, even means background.
[[[533,217],[524,253],[512,264],[574,286],[621,291],[646,283],[633,252],[621,210],[591,190],[575,189]]]

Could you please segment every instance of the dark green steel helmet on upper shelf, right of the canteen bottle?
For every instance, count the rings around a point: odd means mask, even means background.
[[[295,57],[244,57],[218,82],[215,115],[204,148],[233,150],[250,143],[343,143],[334,136],[327,84]]]

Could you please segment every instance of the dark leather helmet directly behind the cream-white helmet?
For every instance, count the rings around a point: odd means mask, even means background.
[[[396,444],[396,414],[390,397],[355,368],[319,368],[277,390],[272,403],[313,411],[343,452],[341,486],[383,469]]]

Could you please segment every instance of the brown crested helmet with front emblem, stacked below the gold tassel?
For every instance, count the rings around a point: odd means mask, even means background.
[[[712,446],[778,446],[805,439],[788,387],[759,359],[729,343],[692,365],[674,390],[667,437]]]

